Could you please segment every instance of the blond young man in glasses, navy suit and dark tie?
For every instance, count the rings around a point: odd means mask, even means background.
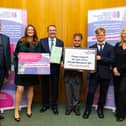
[[[114,62],[114,49],[113,46],[105,41],[106,31],[104,28],[97,28],[96,31],[96,44],[90,48],[97,49],[97,65],[95,71],[89,73],[89,85],[86,100],[85,112],[83,118],[87,119],[91,113],[91,107],[94,100],[94,94],[99,86],[99,99],[97,104],[97,114],[99,118],[104,118],[104,105],[106,102],[107,91],[109,82],[112,75],[112,64]]]

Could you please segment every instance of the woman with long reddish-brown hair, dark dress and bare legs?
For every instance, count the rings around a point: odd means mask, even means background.
[[[19,75],[18,72],[18,53],[19,52],[40,52],[39,41],[36,29],[33,25],[28,25],[25,29],[24,36],[21,37],[16,45],[14,52],[14,66],[15,66],[15,83],[16,83],[16,96],[15,96],[15,111],[14,119],[20,121],[19,106],[22,98],[24,88],[27,88],[27,116],[32,115],[32,99],[34,85],[38,84],[37,75]]]

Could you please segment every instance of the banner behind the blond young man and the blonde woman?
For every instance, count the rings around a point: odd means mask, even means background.
[[[106,29],[106,40],[115,45],[120,40],[121,29],[126,27],[126,7],[88,11],[88,46],[96,42],[95,29],[98,27]],[[95,96],[94,105],[97,99],[98,92]],[[114,90],[111,81],[105,107],[115,110],[114,106]]]

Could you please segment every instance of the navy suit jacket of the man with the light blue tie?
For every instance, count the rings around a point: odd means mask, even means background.
[[[56,46],[64,47],[63,41],[56,38]],[[42,53],[50,53],[48,38],[40,39],[40,47]],[[59,64],[51,64],[51,73],[59,71]]]

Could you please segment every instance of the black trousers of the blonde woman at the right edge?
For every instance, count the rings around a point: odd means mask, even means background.
[[[114,95],[116,115],[126,116],[126,76],[114,76]]]

